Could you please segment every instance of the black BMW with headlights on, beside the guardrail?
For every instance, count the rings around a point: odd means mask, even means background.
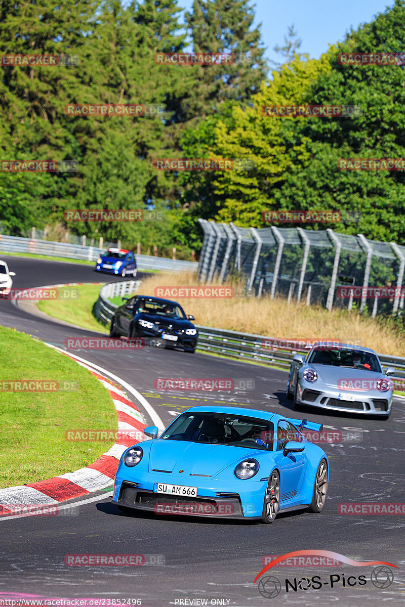
[[[199,332],[190,322],[194,316],[186,316],[183,308],[169,299],[135,295],[114,312],[111,319],[111,337],[158,338],[166,347],[196,350]]]

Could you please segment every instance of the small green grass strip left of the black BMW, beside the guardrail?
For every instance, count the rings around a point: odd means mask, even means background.
[[[101,324],[92,314],[92,308],[97,302],[101,285],[78,285],[77,287],[66,287],[72,295],[77,294],[75,298],[41,300],[38,302],[38,309],[49,316],[72,322],[78,327],[98,331],[107,334],[109,328]]]

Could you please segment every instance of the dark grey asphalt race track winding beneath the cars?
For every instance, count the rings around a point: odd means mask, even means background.
[[[96,274],[90,266],[9,256],[5,259],[10,270],[16,272],[13,285],[16,288],[120,280]],[[192,310],[186,313],[192,314]],[[95,336],[86,330],[32,316],[5,300],[0,300],[0,323],[61,348],[66,337]],[[105,605],[112,605],[112,599],[121,602],[139,599],[144,607],[306,606],[315,601],[319,605],[335,605],[336,601],[347,606],[381,605],[383,601],[403,605],[405,515],[339,515],[338,504],[405,502],[405,400],[394,399],[388,421],[298,413],[285,398],[284,371],[159,348],[131,352],[75,350],[75,353],[131,384],[165,424],[189,406],[221,402],[290,417],[305,416],[310,421],[323,422],[325,429],[362,430],[362,440],[322,445],[330,459],[330,484],[325,508],[319,515],[302,511],[281,514],[271,525],[149,513],[128,515],[111,504],[108,492],[99,492],[95,499],[90,495],[75,500],[75,504],[81,501],[83,504],[69,510],[66,516],[0,520],[0,597],[10,593],[43,598],[97,597],[106,599]],[[2,356],[6,355],[2,351]],[[253,379],[255,389],[223,396],[163,393],[154,387],[159,377]],[[147,415],[145,418],[151,422]],[[89,498],[94,501],[88,501]],[[391,568],[394,578],[389,587],[378,588],[370,580],[372,566],[322,564],[273,568],[265,575],[274,575],[281,581],[281,593],[271,599],[262,597],[257,583],[253,584],[264,566],[262,557],[305,549],[333,551],[357,561],[387,561],[398,569]],[[160,564],[72,567],[64,564],[67,554],[160,555]],[[297,591],[285,590],[285,578],[293,582],[294,578],[310,580],[314,575],[321,578],[321,589],[301,580]],[[335,575],[333,580],[340,576],[333,588],[331,575]],[[359,575],[365,575],[367,583],[343,585],[343,576],[354,576],[353,583]]]

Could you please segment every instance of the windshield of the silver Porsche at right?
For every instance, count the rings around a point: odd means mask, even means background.
[[[308,363],[315,365],[331,365],[332,367],[349,367],[365,371],[381,373],[378,358],[372,352],[352,350],[351,348],[313,350]]]

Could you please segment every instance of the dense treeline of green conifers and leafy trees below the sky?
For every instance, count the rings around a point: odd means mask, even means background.
[[[0,160],[73,160],[76,172],[0,172],[3,231],[58,225],[180,256],[197,219],[262,226],[267,209],[338,209],[358,223],[315,224],[401,242],[403,171],[339,171],[339,158],[405,158],[403,65],[344,65],[338,53],[401,52],[405,2],[320,59],[291,55],[270,74],[248,0],[0,0],[0,55],[76,56],[69,66],[2,66]],[[292,31],[292,30],[291,30]],[[276,41],[274,41],[276,42]],[[234,53],[215,65],[159,64],[156,53]],[[73,61],[73,63],[75,63]],[[400,63],[400,62],[399,62]],[[67,104],[143,104],[164,114],[67,115]],[[264,106],[350,104],[347,118],[269,117]],[[248,158],[251,170],[158,171],[158,158]],[[165,222],[64,222],[66,209],[156,208]]]

